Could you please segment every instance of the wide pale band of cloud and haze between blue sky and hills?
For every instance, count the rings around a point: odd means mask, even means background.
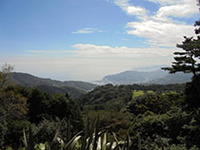
[[[135,67],[168,65],[173,52],[174,49],[159,47],[130,48],[79,43],[73,45],[71,50],[29,50],[26,55],[7,57],[1,62],[14,64],[16,71],[40,77],[94,81]]]

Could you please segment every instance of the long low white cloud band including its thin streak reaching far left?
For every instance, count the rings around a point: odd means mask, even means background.
[[[82,56],[82,57],[94,57],[94,58],[132,58],[135,56],[152,57],[154,56],[171,56],[174,49],[163,49],[163,48],[129,48],[129,47],[111,47],[104,45],[94,45],[94,44],[75,44],[72,46],[75,50],[29,50],[29,54],[71,54],[70,56]],[[40,55],[35,55],[40,56]],[[51,55],[50,55],[51,56]],[[64,56],[64,55],[56,55]],[[47,61],[48,62],[48,61]]]

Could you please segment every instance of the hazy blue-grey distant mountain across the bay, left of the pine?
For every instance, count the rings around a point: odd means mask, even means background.
[[[191,80],[191,74],[176,73],[169,74],[161,69],[154,71],[124,71],[114,75],[105,76],[104,84],[175,84],[185,83]]]

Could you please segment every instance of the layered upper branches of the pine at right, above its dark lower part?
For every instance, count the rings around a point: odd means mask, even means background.
[[[183,51],[175,52],[174,59],[171,68],[163,68],[169,70],[170,73],[184,72],[192,73],[194,78],[199,78],[200,76],[200,21],[196,21],[195,26],[198,27],[195,29],[197,35],[194,37],[186,37],[182,44],[177,44],[178,48],[182,48]]]

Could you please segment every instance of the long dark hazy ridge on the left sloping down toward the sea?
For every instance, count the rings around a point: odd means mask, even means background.
[[[82,94],[94,89],[97,85],[82,81],[57,81],[39,78],[27,73],[11,73],[11,80],[16,84],[26,87],[36,87],[47,93],[68,93],[72,98],[78,98]]]

